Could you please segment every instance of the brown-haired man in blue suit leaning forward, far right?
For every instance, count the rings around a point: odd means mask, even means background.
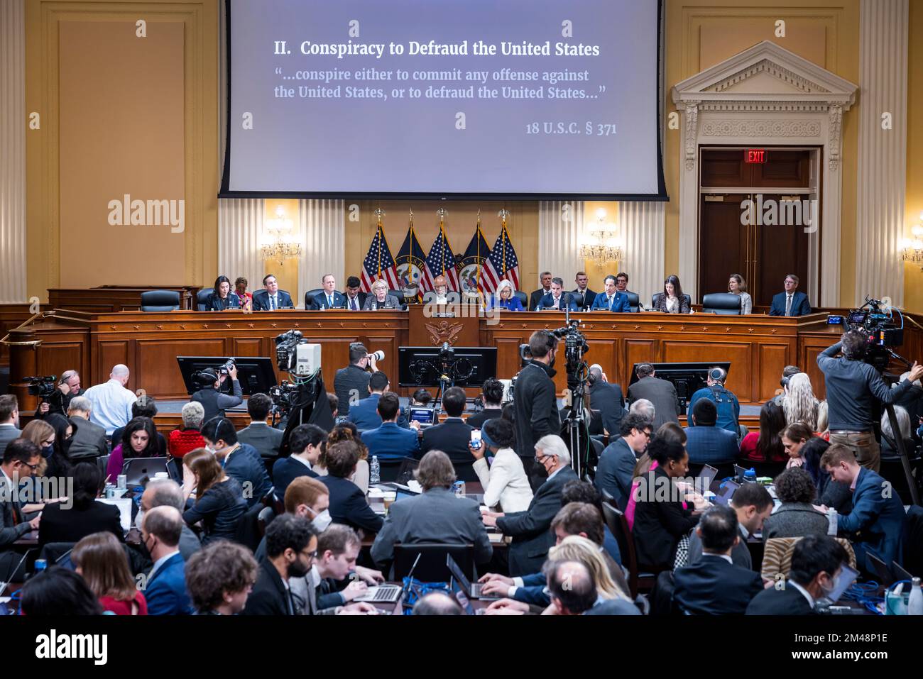
[[[902,563],[906,513],[891,483],[860,467],[856,454],[842,444],[827,448],[821,457],[821,468],[830,472],[833,481],[845,483],[853,492],[853,510],[840,515],[837,530],[853,543],[858,566],[874,572],[867,554],[875,554],[886,564]]]

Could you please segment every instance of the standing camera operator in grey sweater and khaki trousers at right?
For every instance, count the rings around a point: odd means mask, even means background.
[[[830,443],[850,448],[860,465],[877,473],[881,451],[873,429],[875,401],[889,404],[900,399],[923,375],[923,365],[914,363],[904,380],[888,387],[878,371],[862,360],[867,343],[862,333],[850,330],[841,341],[821,352],[817,364],[827,385]],[[838,351],[843,356],[834,358]]]

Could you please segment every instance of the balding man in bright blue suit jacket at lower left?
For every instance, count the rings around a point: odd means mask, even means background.
[[[186,591],[186,562],[179,553],[182,534],[183,516],[176,507],[155,506],[145,513],[141,542],[154,560],[143,591],[149,615],[192,613],[192,602]]]

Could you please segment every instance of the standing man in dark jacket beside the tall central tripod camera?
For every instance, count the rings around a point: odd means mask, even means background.
[[[557,339],[547,330],[536,330],[529,338],[532,360],[526,363],[516,380],[513,403],[516,407],[516,452],[523,459],[526,470],[533,469],[535,442],[542,436],[559,435],[561,418],[557,411],[557,395],[553,377]],[[539,468],[541,470],[541,468]],[[533,478],[536,482],[544,479]]]

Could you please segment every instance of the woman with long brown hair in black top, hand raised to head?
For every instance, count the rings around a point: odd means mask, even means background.
[[[196,502],[186,509],[183,520],[192,526],[202,523],[202,544],[235,540],[238,522],[246,513],[244,491],[236,479],[226,475],[221,463],[208,450],[198,448],[183,458],[183,497],[193,491]]]

